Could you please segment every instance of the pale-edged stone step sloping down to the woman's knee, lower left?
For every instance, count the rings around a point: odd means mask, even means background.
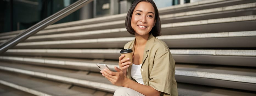
[[[96,65],[95,65],[96,66]],[[57,80],[66,83],[72,83],[80,86],[114,92],[118,86],[112,85],[105,77],[99,74],[88,74],[88,72],[80,72],[77,70],[57,69],[50,67],[40,67],[24,64],[1,64],[1,69],[11,72],[22,73],[50,80]],[[99,71],[98,71],[99,72]]]

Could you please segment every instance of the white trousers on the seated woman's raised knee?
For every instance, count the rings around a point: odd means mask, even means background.
[[[145,96],[145,95],[128,87],[120,87],[116,89],[114,96]]]

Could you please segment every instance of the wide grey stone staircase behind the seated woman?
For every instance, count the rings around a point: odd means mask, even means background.
[[[159,9],[180,96],[256,95],[256,1],[206,0]],[[126,14],[54,24],[0,55],[0,95],[112,96],[96,63],[118,66],[134,39]],[[20,31],[0,34],[0,43]]]

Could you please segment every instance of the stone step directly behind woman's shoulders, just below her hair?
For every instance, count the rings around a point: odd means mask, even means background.
[[[169,48],[230,48],[256,47],[255,31],[162,35]],[[123,48],[134,37],[78,40],[38,41],[19,43],[15,48]]]

